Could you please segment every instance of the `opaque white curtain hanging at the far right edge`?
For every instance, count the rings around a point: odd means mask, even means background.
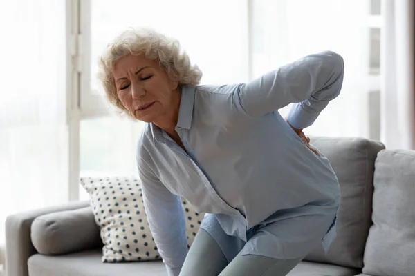
[[[414,1],[382,0],[381,139],[415,149]]]

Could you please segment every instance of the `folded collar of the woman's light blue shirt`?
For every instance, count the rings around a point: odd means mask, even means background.
[[[185,86],[182,88],[176,128],[190,129],[190,126],[192,126],[195,92],[196,88],[194,86]],[[153,136],[153,145],[155,146],[156,141],[160,141],[160,138],[163,137],[163,132],[158,126],[152,123],[151,132]]]

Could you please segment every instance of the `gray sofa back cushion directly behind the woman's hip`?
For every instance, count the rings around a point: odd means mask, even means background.
[[[312,138],[311,143],[329,159],[340,182],[342,202],[337,238],[327,255],[320,246],[305,260],[362,268],[373,196],[374,162],[385,148],[362,138]]]

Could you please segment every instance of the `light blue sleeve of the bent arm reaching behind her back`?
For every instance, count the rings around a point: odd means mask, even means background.
[[[252,117],[295,103],[287,119],[295,128],[306,128],[339,95],[343,72],[343,59],[335,52],[308,55],[240,86],[234,103]]]

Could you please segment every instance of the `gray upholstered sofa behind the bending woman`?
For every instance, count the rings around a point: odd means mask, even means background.
[[[340,182],[338,235],[327,255],[315,248],[288,275],[415,275],[415,151],[349,137],[311,137],[311,144]],[[167,275],[161,261],[109,264],[101,257],[88,201],[6,219],[7,276]]]

